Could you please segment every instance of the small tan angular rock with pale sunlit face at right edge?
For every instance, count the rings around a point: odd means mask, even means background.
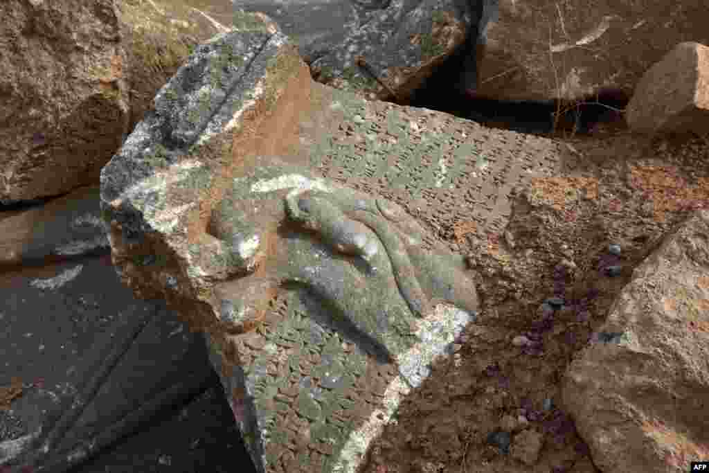
[[[709,47],[681,43],[645,72],[625,120],[642,133],[709,133]]]

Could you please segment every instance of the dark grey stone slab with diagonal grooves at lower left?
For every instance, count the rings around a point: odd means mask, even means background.
[[[0,386],[17,389],[8,410],[0,409],[0,465],[17,467],[12,471],[97,471],[96,464],[85,470],[82,464],[213,380],[201,336],[189,333],[162,301],[136,300],[106,251],[2,272],[0,325]],[[189,429],[173,425],[191,433],[188,445],[212,435],[199,430],[194,415],[191,420]],[[238,445],[233,435],[230,443]],[[45,442],[48,452],[41,449]],[[158,446],[162,441],[151,433],[143,442],[178,453]],[[184,460],[204,453],[182,448],[191,452]]]

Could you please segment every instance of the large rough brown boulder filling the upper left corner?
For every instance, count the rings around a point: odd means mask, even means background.
[[[0,204],[96,184],[191,48],[220,30],[180,2],[0,4]]]

